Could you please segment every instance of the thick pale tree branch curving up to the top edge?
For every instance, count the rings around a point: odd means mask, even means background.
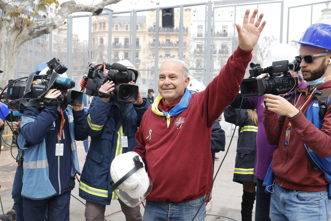
[[[43,34],[49,34],[52,30],[59,28],[63,21],[74,12],[91,12],[99,15],[105,6],[118,3],[120,0],[103,0],[97,5],[77,4],[75,1],[64,2],[55,17],[36,23],[36,26],[29,31],[29,39],[36,38]]]

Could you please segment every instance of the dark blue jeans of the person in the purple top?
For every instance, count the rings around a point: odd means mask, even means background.
[[[255,220],[267,221],[270,210],[270,193],[265,193],[265,186],[262,186],[263,180],[257,179],[256,183],[256,201],[255,201]]]

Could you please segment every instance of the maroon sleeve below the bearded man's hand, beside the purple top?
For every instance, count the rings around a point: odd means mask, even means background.
[[[277,117],[275,112],[267,109],[263,110],[263,126],[267,141],[271,145],[279,143],[280,135],[283,130],[285,116]]]

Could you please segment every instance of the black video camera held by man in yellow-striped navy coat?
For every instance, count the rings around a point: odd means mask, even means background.
[[[100,92],[99,88],[108,80],[115,83],[115,89],[110,94]],[[86,87],[86,94],[91,96],[99,95],[100,97],[115,98],[118,101],[135,102],[139,87],[128,84],[134,80],[135,73],[124,65],[104,62],[93,67],[89,64],[80,85]]]

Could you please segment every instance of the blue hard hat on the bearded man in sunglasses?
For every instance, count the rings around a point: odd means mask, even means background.
[[[302,35],[300,41],[292,42],[331,50],[331,26],[322,23],[312,24]]]

